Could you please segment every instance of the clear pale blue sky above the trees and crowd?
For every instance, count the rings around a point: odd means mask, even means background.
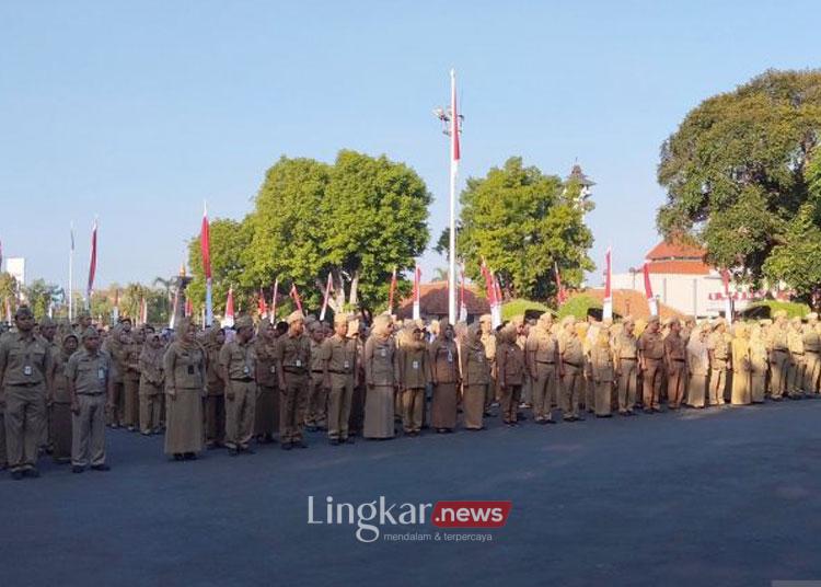
[[[31,277],[177,271],[211,216],[251,209],[280,154],[410,164],[447,223],[459,74],[463,177],[520,154],[598,185],[592,255],[616,271],[658,237],[661,141],[701,100],[767,68],[819,66],[818,2],[11,1],[0,4],[0,240]],[[461,182],[463,184],[463,181]],[[426,277],[444,260],[428,253]],[[598,272],[597,272],[598,273]],[[595,275],[591,281],[598,281]]]

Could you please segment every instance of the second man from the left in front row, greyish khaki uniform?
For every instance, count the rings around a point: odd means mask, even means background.
[[[114,403],[114,370],[111,357],[100,350],[100,335],[89,327],[81,336],[82,348],[66,365],[71,393],[71,471],[82,473],[91,464],[108,471],[105,462],[106,403]],[[107,400],[107,401],[106,401]]]

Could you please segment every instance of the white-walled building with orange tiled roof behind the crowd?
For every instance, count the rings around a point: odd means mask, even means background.
[[[726,308],[726,288],[721,273],[706,262],[707,252],[698,246],[674,242],[660,242],[647,255],[648,273],[654,296],[682,314],[698,318],[717,316]],[[613,274],[614,289],[645,291],[643,268],[639,265],[627,273]],[[747,287],[730,284],[727,288],[733,299],[736,312],[743,311],[762,292],[751,292]]]

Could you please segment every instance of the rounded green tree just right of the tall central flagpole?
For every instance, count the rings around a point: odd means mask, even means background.
[[[555,265],[566,284],[580,284],[594,268],[588,256],[593,237],[585,225],[592,204],[580,192],[575,181],[524,166],[520,157],[469,179],[456,241],[467,274],[479,279],[484,258],[509,296],[536,299],[555,296]],[[447,251],[447,237],[438,251]]]

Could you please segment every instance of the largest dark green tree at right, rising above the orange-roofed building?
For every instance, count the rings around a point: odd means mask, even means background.
[[[774,248],[802,230],[791,221],[809,197],[805,172],[819,130],[821,70],[766,71],[705,100],[661,147],[668,199],[659,229],[695,239],[714,264],[759,279]],[[784,253],[768,275],[785,267]]]

